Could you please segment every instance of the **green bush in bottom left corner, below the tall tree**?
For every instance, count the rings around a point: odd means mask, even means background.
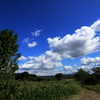
[[[18,93],[18,82],[5,77],[0,77],[0,100],[15,100]]]

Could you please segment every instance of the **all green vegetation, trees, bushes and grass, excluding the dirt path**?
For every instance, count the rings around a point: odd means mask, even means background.
[[[0,31],[0,100],[63,100],[78,94],[82,89],[80,84],[100,92],[99,67],[91,69],[92,73],[79,69],[74,76],[57,73],[54,77],[37,77],[28,72],[14,73],[21,56],[17,37],[13,30]],[[77,82],[69,80],[74,77]]]

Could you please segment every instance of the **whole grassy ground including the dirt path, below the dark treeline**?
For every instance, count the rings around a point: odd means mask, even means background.
[[[72,79],[0,81],[0,100],[100,100],[100,84],[81,86]]]

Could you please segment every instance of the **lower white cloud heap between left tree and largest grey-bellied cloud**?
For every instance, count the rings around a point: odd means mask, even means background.
[[[34,60],[28,61],[25,64],[21,65],[20,68],[30,69],[54,69],[62,66],[61,62],[53,61],[53,58],[47,57],[45,54],[40,55],[39,57],[34,57]]]

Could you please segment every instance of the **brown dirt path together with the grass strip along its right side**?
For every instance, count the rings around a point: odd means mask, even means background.
[[[100,100],[100,84],[83,85],[81,92],[65,100]]]

